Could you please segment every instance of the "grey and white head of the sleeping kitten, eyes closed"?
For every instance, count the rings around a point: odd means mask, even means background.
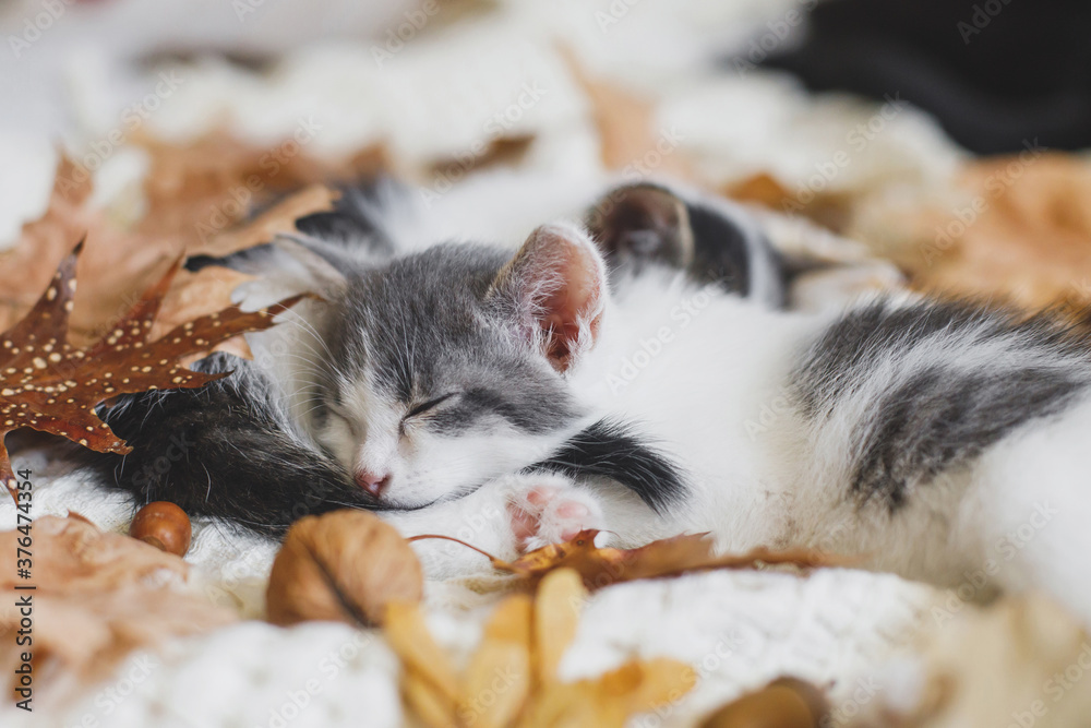
[[[381,502],[418,508],[546,457],[582,416],[565,374],[595,342],[606,267],[575,227],[513,256],[436,246],[340,287],[315,437]]]

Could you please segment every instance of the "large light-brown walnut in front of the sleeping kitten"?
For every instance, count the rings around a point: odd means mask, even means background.
[[[424,576],[412,548],[367,511],[307,516],[288,530],[265,593],[268,621],[379,624],[392,601],[420,601]]]

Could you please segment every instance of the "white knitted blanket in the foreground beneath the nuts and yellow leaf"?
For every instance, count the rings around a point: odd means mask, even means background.
[[[128,528],[127,498],[40,454],[17,462],[35,473],[35,516],[74,511],[103,528]],[[10,503],[0,524],[14,522]],[[260,618],[275,546],[197,522],[187,561],[191,588]],[[468,557],[472,558],[472,557]],[[562,677],[601,673],[630,657],[692,664],[698,687],[636,726],[690,726],[746,690],[791,675],[832,684],[839,713],[874,695],[871,676],[907,644],[933,589],[896,576],[829,569],[806,577],[714,572],[608,587],[591,597]],[[430,625],[466,657],[480,639],[488,599],[459,584],[431,584]],[[47,625],[39,625],[46,629]],[[180,640],[164,654],[134,654],[82,699],[47,702],[33,716],[9,704],[4,726],[399,726],[398,663],[377,632],[313,623],[281,629],[243,621]],[[865,690],[862,692],[861,687]],[[868,693],[868,691],[871,691]],[[365,718],[363,723],[361,720]]]

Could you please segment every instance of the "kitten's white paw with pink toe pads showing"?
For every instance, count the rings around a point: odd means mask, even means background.
[[[507,513],[521,552],[571,540],[587,528],[603,527],[602,509],[594,496],[548,479],[515,492],[508,499]]]

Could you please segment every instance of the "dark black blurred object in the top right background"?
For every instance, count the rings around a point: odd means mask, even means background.
[[[830,0],[764,65],[813,91],[900,94],[978,154],[1091,146],[1087,0]]]

